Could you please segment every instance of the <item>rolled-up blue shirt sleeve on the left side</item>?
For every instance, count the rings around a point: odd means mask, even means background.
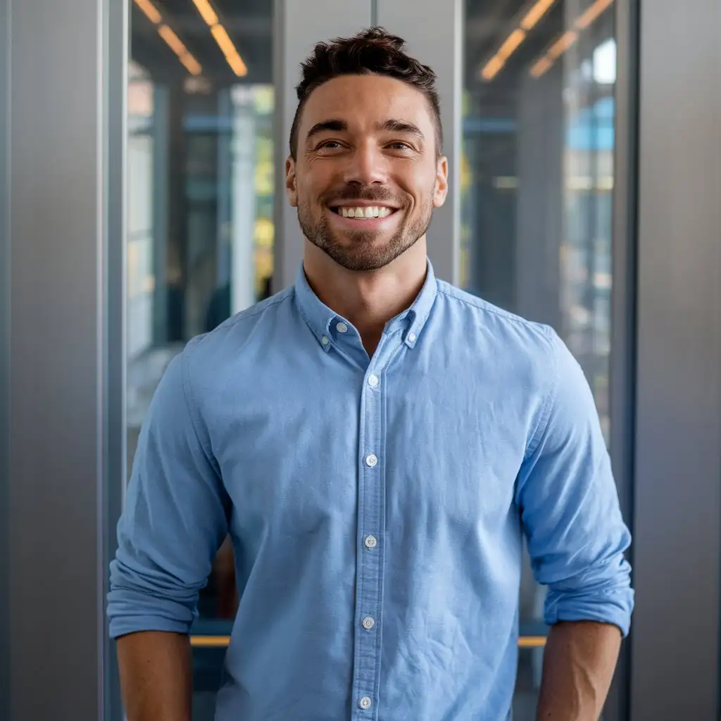
[[[138,439],[110,563],[111,637],[189,632],[226,535],[229,500],[209,441],[191,415],[186,352],[164,373]]]

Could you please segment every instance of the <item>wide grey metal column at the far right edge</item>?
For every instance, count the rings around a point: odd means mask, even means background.
[[[720,24],[641,3],[633,721],[719,717]]]

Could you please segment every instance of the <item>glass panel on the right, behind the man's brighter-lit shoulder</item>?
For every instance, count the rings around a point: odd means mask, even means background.
[[[461,285],[557,330],[609,438],[613,0],[466,0],[464,34]],[[543,602],[526,562],[522,633]],[[540,663],[521,652],[515,719]]]

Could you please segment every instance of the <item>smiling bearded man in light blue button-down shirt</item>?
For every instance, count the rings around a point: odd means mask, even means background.
[[[190,718],[198,589],[239,610],[218,721],[503,721],[523,536],[539,718],[594,720],[632,590],[588,384],[548,327],[436,280],[434,76],[379,29],[303,65],[296,283],[187,345],[143,427],[109,615],[129,721]]]

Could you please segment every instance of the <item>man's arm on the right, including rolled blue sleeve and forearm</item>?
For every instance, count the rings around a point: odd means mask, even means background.
[[[548,587],[539,719],[597,721],[633,609],[630,534],[588,382],[550,340],[553,380],[516,490],[534,575]]]

